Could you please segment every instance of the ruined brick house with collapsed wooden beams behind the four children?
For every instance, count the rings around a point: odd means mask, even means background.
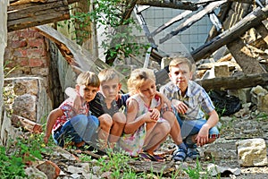
[[[9,68],[16,68],[4,83],[11,85],[17,97],[13,104],[13,114],[16,115],[12,117],[14,121],[29,120],[44,123],[48,111],[63,101],[63,90],[73,84],[78,72],[84,70],[98,72],[108,67],[97,57],[92,44],[88,45],[89,49],[78,46],[70,38],[63,36],[64,31],[60,32],[60,28],[55,25],[56,21],[70,19],[70,5],[75,2],[77,1],[11,0],[7,6],[8,34],[4,62],[8,63],[6,65]],[[267,85],[268,7],[265,1],[133,0],[129,4],[124,18],[129,18],[131,14],[137,19],[143,29],[143,34],[138,35],[150,43],[151,47],[148,48],[150,55],[146,55],[145,58],[132,55],[128,63],[154,67],[157,70],[155,74],[159,85],[168,80],[164,68],[169,56],[172,55],[172,52],[165,52],[161,46],[178,36],[181,37],[180,42],[186,43],[183,42],[186,40],[183,39],[185,37],[183,33],[191,30],[194,24],[203,18],[208,18],[206,21],[210,21],[209,23],[213,25],[205,41],[203,43],[198,41],[194,47],[192,44],[186,45],[187,50],[183,52],[174,51],[189,55],[198,64],[198,82],[206,90],[238,90]],[[180,13],[153,26],[147,19],[147,11],[155,6],[165,10],[178,9]],[[49,25],[46,25],[48,23]],[[96,37],[91,39],[94,42]],[[203,64],[207,59],[215,61]],[[240,75],[233,76],[237,72],[236,65],[224,64],[231,60],[239,65]],[[213,70],[216,78],[202,79],[208,70]],[[122,74],[122,79],[125,79],[123,75],[126,74]],[[4,115],[4,118],[8,117]],[[3,121],[1,126],[5,132],[1,133],[1,143],[4,144],[9,125]],[[35,124],[29,122],[29,128],[32,130],[34,127]]]

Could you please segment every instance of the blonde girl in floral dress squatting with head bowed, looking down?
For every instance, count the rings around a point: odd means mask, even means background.
[[[170,124],[160,118],[155,107],[161,104],[155,96],[155,74],[152,70],[141,68],[130,74],[128,80],[130,98],[127,100],[127,123],[121,137],[121,148],[130,156],[157,160],[155,149],[165,141],[171,130]]]

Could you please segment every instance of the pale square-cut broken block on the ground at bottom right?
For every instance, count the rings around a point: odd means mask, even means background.
[[[240,166],[266,166],[264,139],[249,139],[236,142]]]

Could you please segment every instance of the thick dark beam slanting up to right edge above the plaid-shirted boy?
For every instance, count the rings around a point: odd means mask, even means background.
[[[195,62],[201,60],[204,56],[211,55],[220,47],[229,44],[239,36],[243,35],[247,30],[258,26],[262,21],[268,17],[268,5],[264,8],[256,8],[253,12],[248,13],[241,21],[230,27],[229,30],[225,30],[222,34],[213,38],[211,41],[205,43],[203,46],[198,47],[191,52],[192,58]]]

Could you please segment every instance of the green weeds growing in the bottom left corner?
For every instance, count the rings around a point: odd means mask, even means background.
[[[8,147],[0,146],[0,176],[1,178],[25,178],[25,166],[37,158],[42,159],[42,153],[51,153],[52,148],[43,144],[43,134],[21,136],[15,141],[9,141]]]

